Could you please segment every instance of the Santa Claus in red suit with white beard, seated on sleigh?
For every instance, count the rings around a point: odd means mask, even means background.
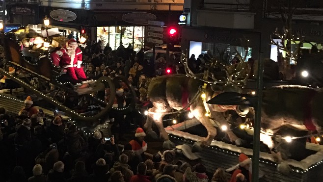
[[[51,54],[54,65],[61,66],[67,70],[72,82],[78,83],[86,80],[85,73],[81,68],[82,51],[76,40],[70,39],[67,46]]]

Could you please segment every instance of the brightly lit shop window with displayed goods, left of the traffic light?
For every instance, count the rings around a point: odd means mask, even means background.
[[[105,26],[97,27],[97,41],[102,41],[102,48],[109,43],[112,50],[118,49],[120,43],[127,48],[132,44],[138,52],[144,46],[144,26]]]

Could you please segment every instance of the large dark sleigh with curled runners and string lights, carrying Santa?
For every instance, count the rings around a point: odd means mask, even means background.
[[[71,118],[78,121],[87,121],[92,125],[99,119],[107,117],[111,109],[124,111],[135,105],[135,90],[128,80],[122,76],[114,79],[122,81],[128,86],[132,101],[123,108],[117,109],[112,107],[115,98],[114,80],[101,77],[98,80],[84,81],[77,85],[72,84],[68,81],[64,69],[55,66],[50,58],[50,53],[59,48],[35,52],[38,56],[31,60],[23,55],[12,32],[1,33],[1,41],[4,45],[8,64],[14,67],[16,72],[11,75],[0,69],[0,73],[30,91],[31,94],[41,98],[42,103],[46,104],[50,110],[58,108]],[[23,77],[21,77],[22,75]],[[98,93],[104,93],[106,89],[110,90],[108,101],[104,102],[104,98],[94,96],[99,95]]]

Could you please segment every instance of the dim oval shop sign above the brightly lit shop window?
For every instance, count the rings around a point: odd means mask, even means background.
[[[122,16],[122,20],[132,24],[147,24],[150,20],[156,20],[156,15],[146,12],[128,13]]]

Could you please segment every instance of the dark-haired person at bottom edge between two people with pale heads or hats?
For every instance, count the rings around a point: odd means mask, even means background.
[[[83,161],[77,161],[75,163],[72,177],[67,182],[91,182],[90,176],[85,170],[85,163]]]

